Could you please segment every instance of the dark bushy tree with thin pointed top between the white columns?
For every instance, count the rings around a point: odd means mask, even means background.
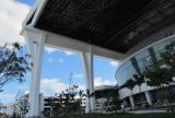
[[[61,114],[62,116],[66,116],[67,118],[70,115],[73,115],[75,111],[81,109],[81,101],[77,101],[74,97],[77,96],[78,93],[78,85],[72,85],[72,73],[69,78],[69,85],[67,86],[67,90],[62,93],[59,93],[59,96],[55,96],[52,98],[48,98],[47,103],[50,104],[51,107],[51,116],[57,114]],[[57,94],[56,94],[57,95]],[[47,111],[44,111],[47,113]]]

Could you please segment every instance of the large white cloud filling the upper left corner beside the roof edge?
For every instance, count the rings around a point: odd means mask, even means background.
[[[15,0],[0,0],[0,46],[12,42],[19,42],[21,45],[25,44],[24,38],[19,34],[30,9],[30,5]]]

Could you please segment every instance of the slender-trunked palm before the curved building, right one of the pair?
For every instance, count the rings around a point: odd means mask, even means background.
[[[140,86],[142,85],[142,83],[144,83],[144,75],[138,75],[138,74],[133,74],[133,79],[136,81],[136,85],[139,86],[139,90],[140,90],[140,95],[141,95],[141,103],[142,103],[142,106],[143,106],[143,109],[144,109],[144,104],[143,104],[143,96],[141,94],[141,88]]]

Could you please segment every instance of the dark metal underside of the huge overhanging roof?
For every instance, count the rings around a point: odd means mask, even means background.
[[[125,54],[174,23],[175,0],[48,0],[35,27]]]

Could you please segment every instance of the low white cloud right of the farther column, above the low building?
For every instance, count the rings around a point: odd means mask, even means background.
[[[94,86],[100,86],[100,85],[115,85],[117,82],[110,82],[108,80],[105,80],[102,82],[102,78],[95,78],[94,79]]]

